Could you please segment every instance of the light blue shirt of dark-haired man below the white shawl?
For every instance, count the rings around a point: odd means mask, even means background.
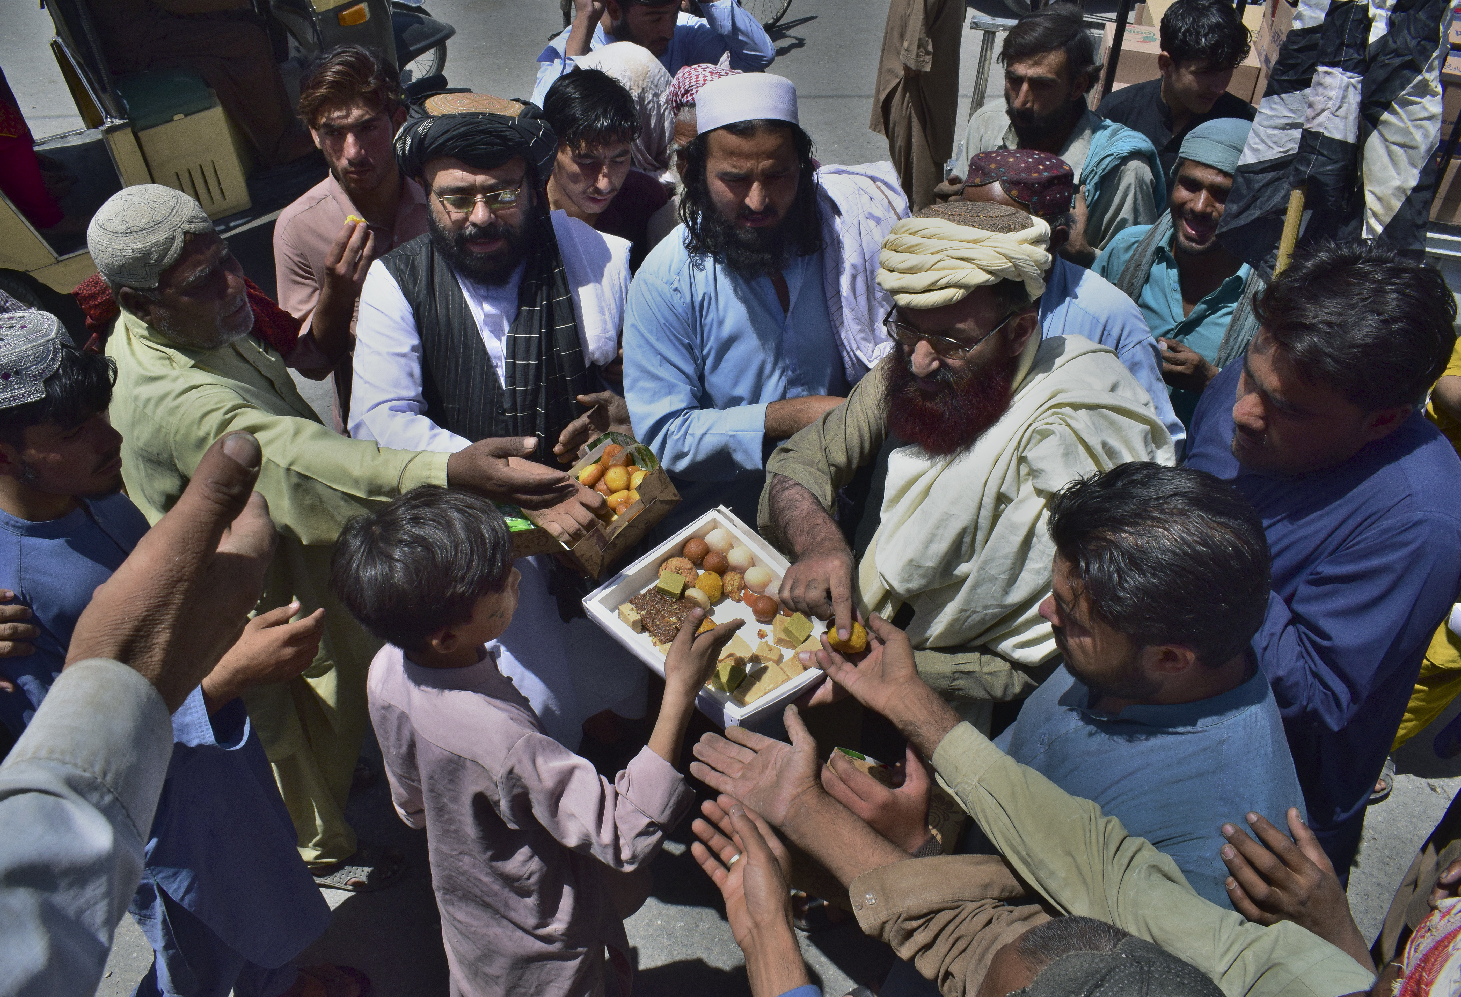
[[[1230,908],[1223,822],[1243,826],[1243,815],[1256,812],[1287,828],[1289,807],[1303,815],[1268,677],[1254,667],[1240,686],[1210,699],[1119,714],[1093,709],[1090,698],[1062,664],[995,746],[1118,817],[1172,855],[1199,896]]]

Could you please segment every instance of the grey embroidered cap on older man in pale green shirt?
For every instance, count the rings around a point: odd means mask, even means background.
[[[86,248],[112,288],[156,288],[188,235],[212,232],[196,200],[162,184],[124,187],[86,226]]]

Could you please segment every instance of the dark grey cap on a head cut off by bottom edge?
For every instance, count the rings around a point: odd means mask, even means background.
[[[1034,978],[1021,997],[1223,997],[1191,962],[1145,939],[1126,939],[1113,952],[1064,955]]]

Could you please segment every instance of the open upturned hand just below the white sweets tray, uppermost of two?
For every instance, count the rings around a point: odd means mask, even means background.
[[[697,779],[757,810],[777,828],[804,794],[823,793],[817,742],[796,707],[787,707],[783,717],[790,744],[744,727],[728,727],[725,737],[704,734],[695,744],[697,761],[690,763]]]

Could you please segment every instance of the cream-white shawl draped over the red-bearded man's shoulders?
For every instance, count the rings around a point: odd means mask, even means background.
[[[1116,355],[1080,336],[1040,343],[1008,412],[972,450],[888,457],[882,518],[859,566],[859,601],[915,617],[916,648],[985,645],[1021,664],[1055,654],[1049,502],[1075,477],[1134,460],[1173,464],[1151,399]]]

